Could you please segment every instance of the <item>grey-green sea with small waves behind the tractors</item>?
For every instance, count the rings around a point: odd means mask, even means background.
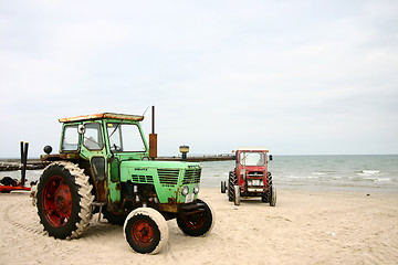
[[[233,160],[200,162],[201,187],[219,188],[234,168]],[[276,189],[398,193],[398,155],[273,156],[269,162]],[[42,170],[28,170],[35,181]],[[0,178],[20,178],[20,171],[1,171]]]

